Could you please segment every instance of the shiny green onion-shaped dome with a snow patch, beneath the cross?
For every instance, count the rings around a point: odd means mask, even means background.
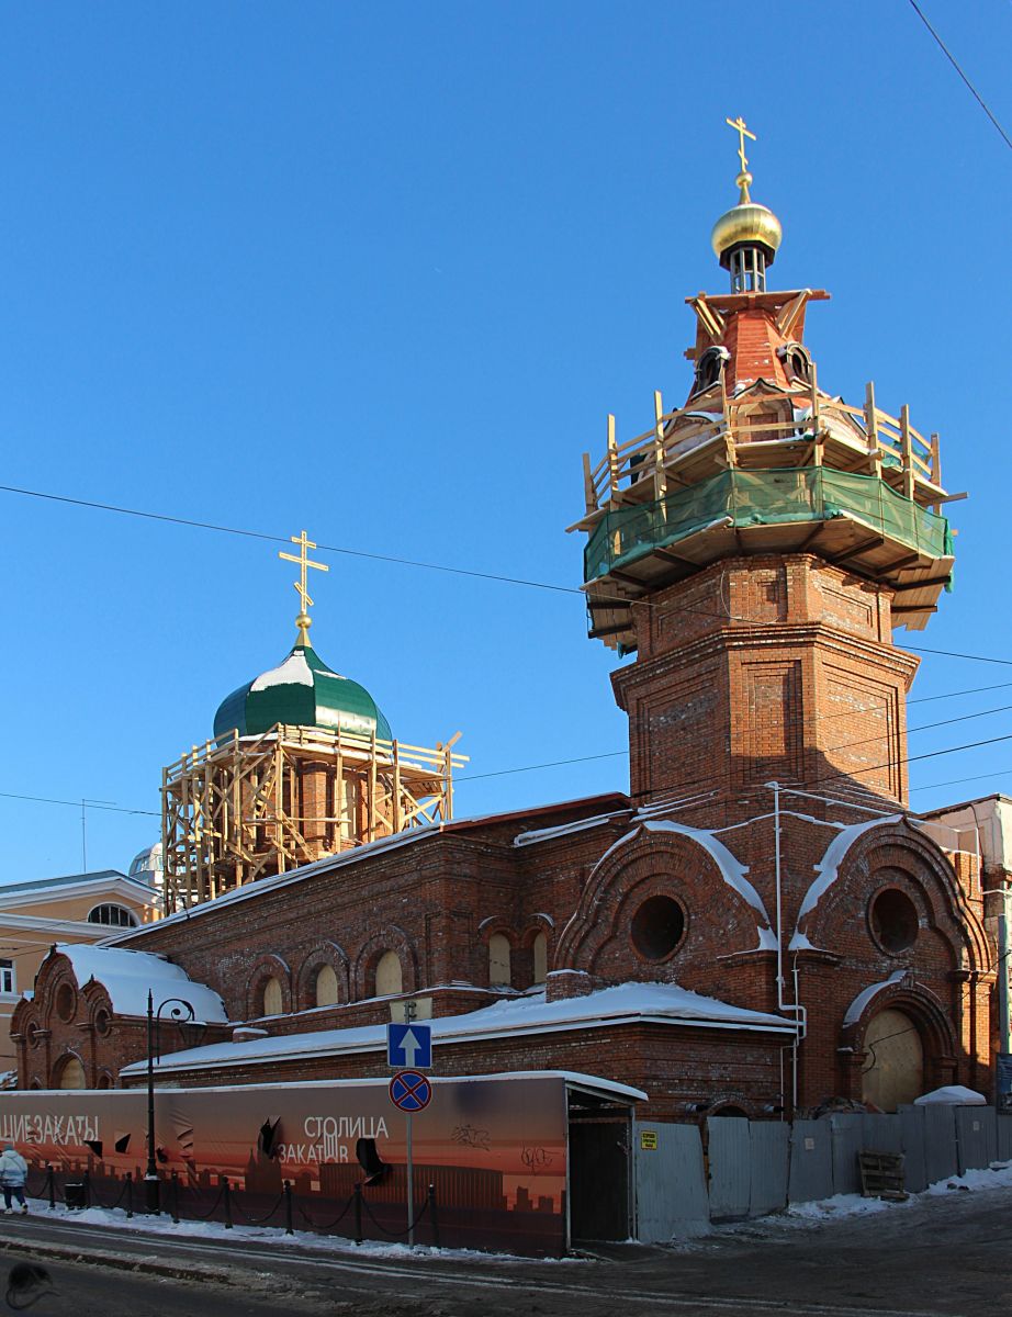
[[[217,706],[215,740],[220,745],[239,730],[258,736],[275,723],[291,727],[327,727],[393,740],[390,724],[376,701],[357,681],[331,672],[307,644],[296,644],[285,662],[233,690]]]

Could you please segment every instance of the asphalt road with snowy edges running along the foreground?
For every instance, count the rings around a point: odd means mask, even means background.
[[[1009,1189],[957,1191],[831,1225],[773,1218],[673,1249],[527,1262],[138,1237],[58,1213],[3,1220],[0,1275],[20,1260],[50,1270],[40,1317],[1012,1317],[1011,1216]]]

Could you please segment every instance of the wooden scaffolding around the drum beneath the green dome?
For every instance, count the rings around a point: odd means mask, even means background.
[[[275,724],[162,770],[166,914],[257,878],[453,817],[453,752]]]

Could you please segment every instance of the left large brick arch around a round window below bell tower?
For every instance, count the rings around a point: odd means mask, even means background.
[[[719,848],[717,855],[712,847]],[[725,855],[722,865],[717,856]],[[584,969],[611,981],[652,972],[632,948],[630,926],[639,906],[655,896],[671,897],[684,910],[679,955],[712,960],[714,948],[722,955],[755,951],[768,930],[768,915],[743,868],[733,869],[729,861],[737,865],[709,834],[642,824],[590,872],[556,940],[553,968]]]

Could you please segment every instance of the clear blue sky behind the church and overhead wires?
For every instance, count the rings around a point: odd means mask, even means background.
[[[924,0],[1012,132],[1012,5]],[[820,383],[942,436],[958,587],[899,641],[1009,656],[1012,151],[909,4],[0,7],[1,483],[580,583],[580,454],[684,400],[735,199],[825,287]],[[256,539],[0,494],[0,790],[158,810],[161,768],[294,640]],[[577,595],[329,554],[314,643],[461,777],[622,751]],[[925,655],[914,697],[1012,682]],[[1012,706],[1012,686],[911,726]],[[918,755],[1012,734],[1001,711]],[[979,781],[950,786],[976,774]],[[623,789],[621,756],[461,781],[460,814]],[[912,765],[1012,790],[1012,740]],[[925,789],[929,788],[929,789]],[[80,868],[79,811],[0,798],[0,881]],[[90,868],[148,815],[90,811]]]

